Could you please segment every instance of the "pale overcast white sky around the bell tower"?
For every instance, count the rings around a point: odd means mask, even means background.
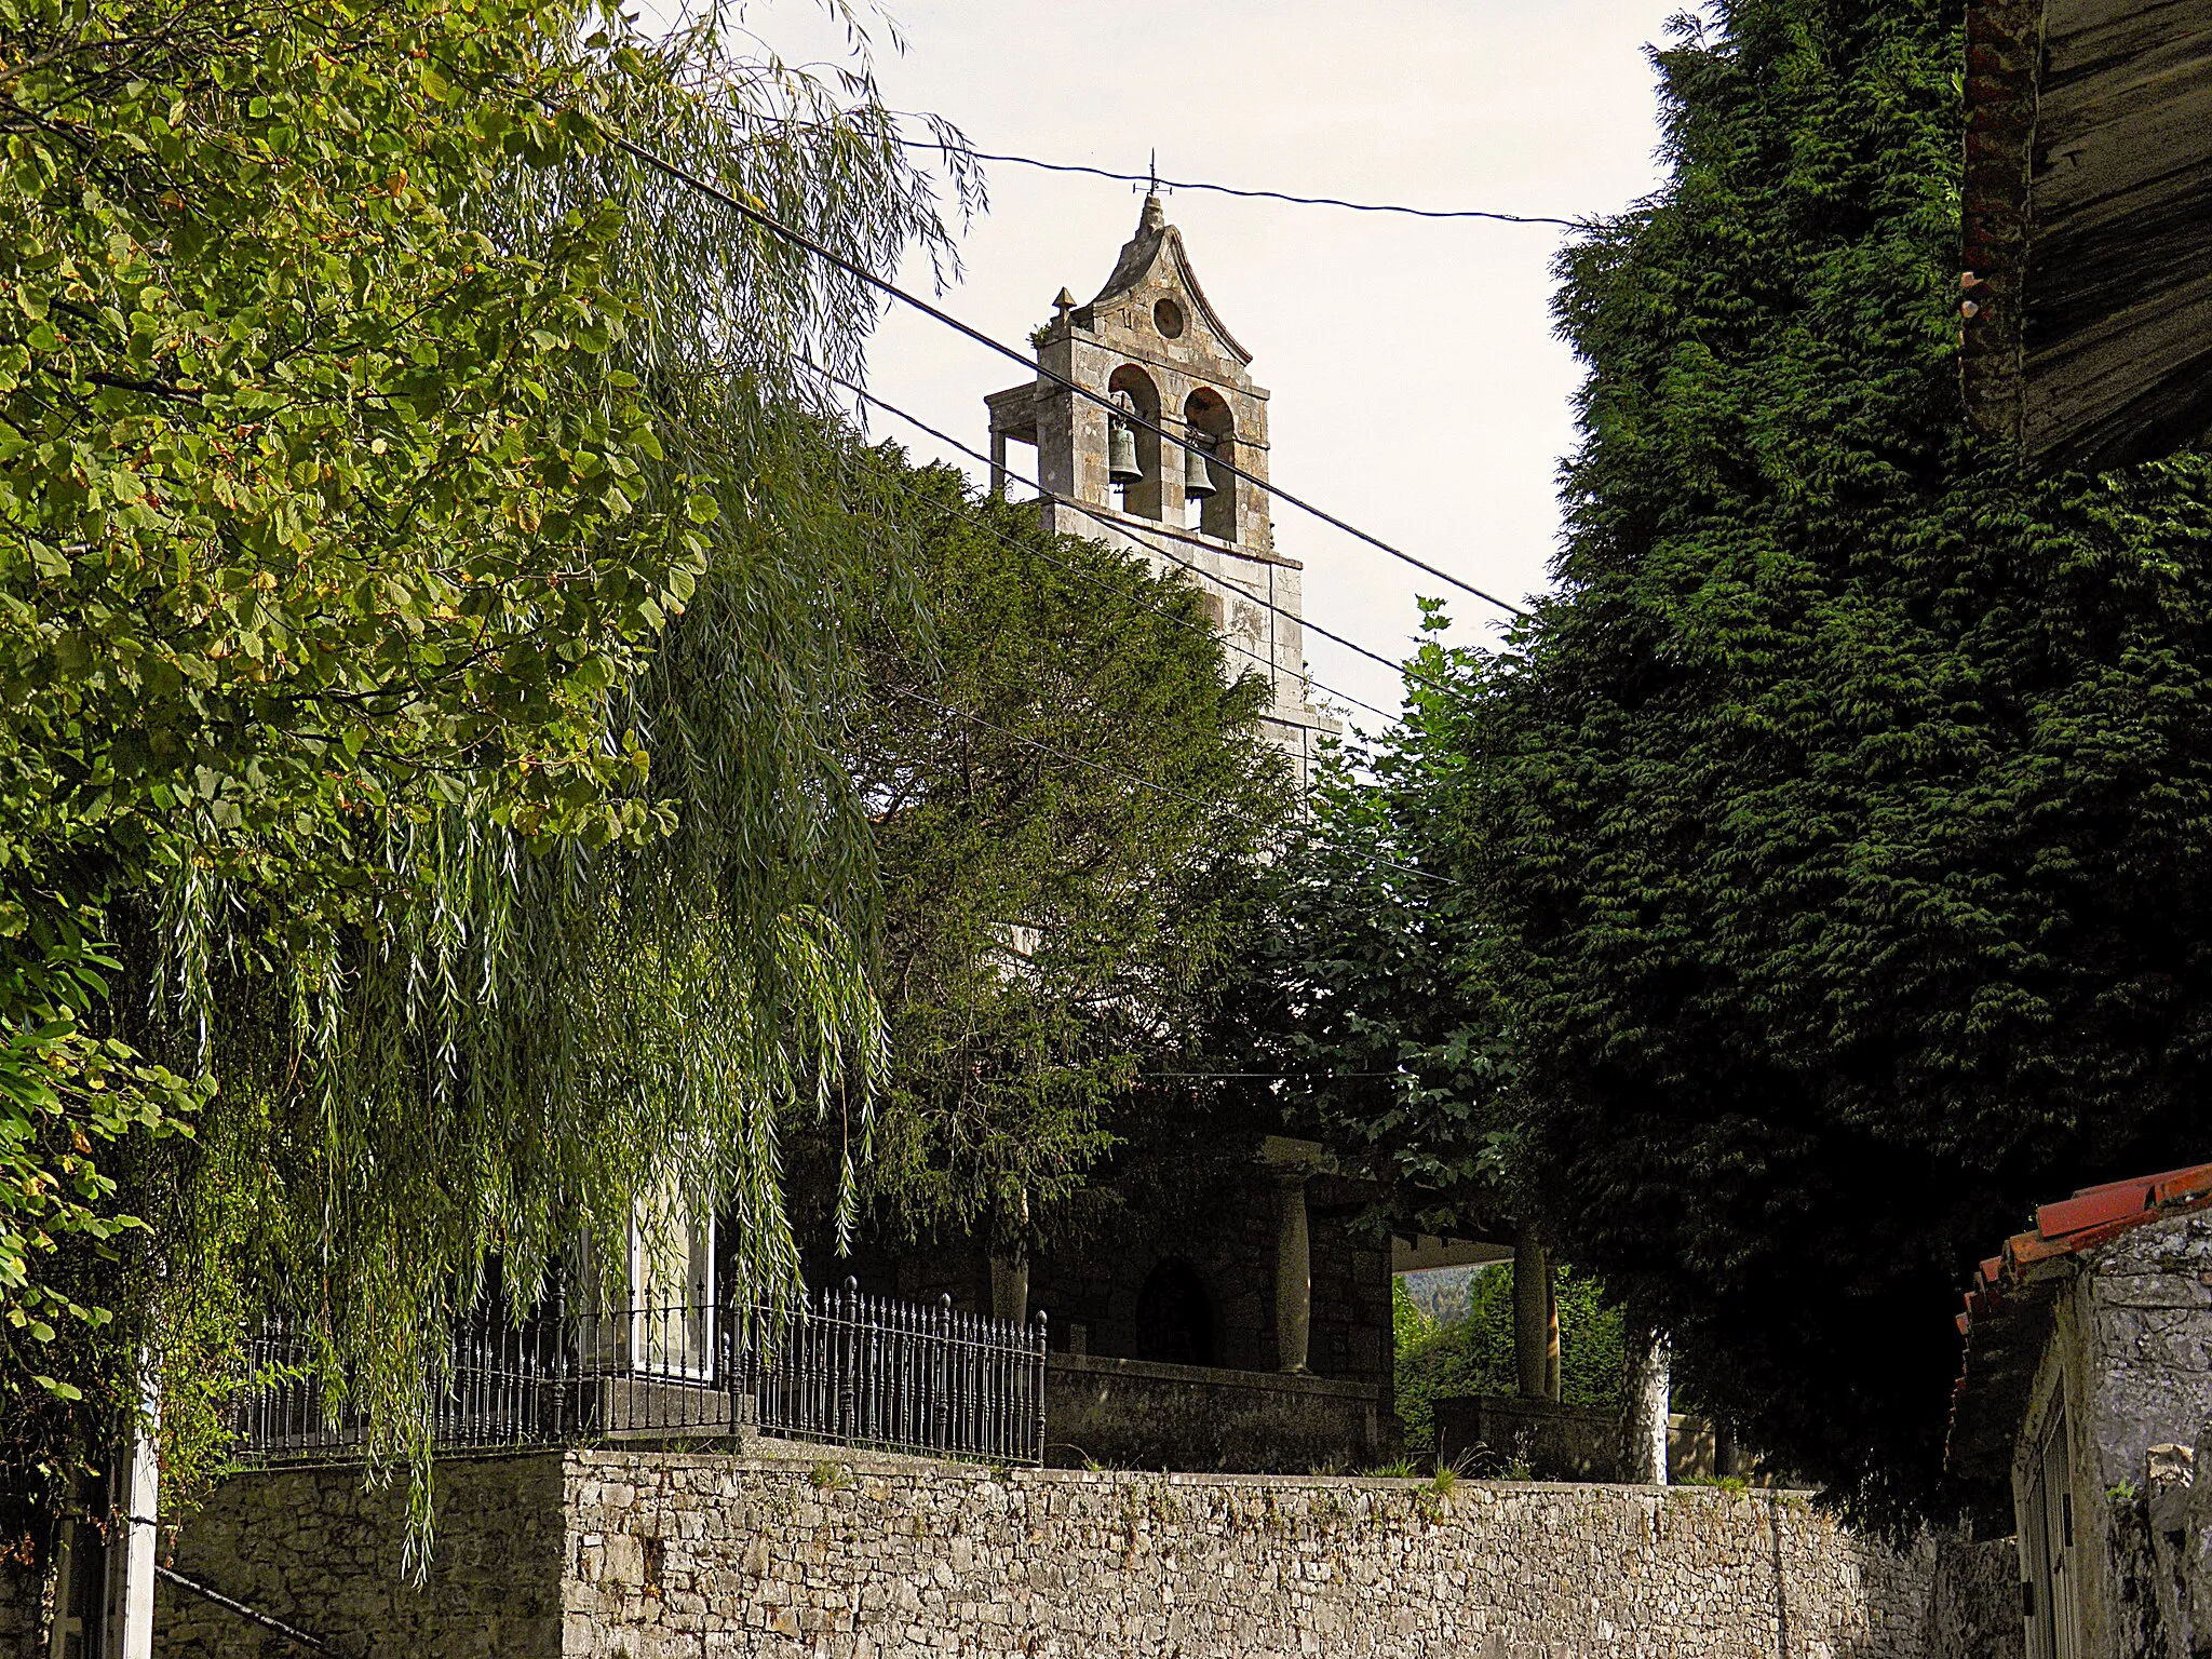
[[[1646,44],[1683,0],[898,0],[876,75],[894,108],[953,119],[980,150],[1292,195],[1573,217],[1659,179]],[[787,60],[841,55],[812,0],[748,9]],[[947,307],[1020,345],[1053,294],[1091,299],[1141,197],[1106,179],[991,166]],[[1517,599],[1557,544],[1557,462],[1579,369],[1553,336],[1546,226],[1420,221],[1177,192],[1206,294],[1274,392],[1272,478],[1387,542]],[[927,292],[927,263],[907,270]],[[896,307],[872,347],[891,403],[984,447],[1004,358]],[[920,458],[958,460],[878,416]],[[1015,449],[1018,465],[1031,451]],[[967,462],[962,462],[967,465]],[[969,467],[969,471],[975,471]],[[1276,502],[1307,617],[1396,659],[1416,593],[1486,608]],[[1310,637],[1314,675],[1383,708],[1396,677]],[[1371,719],[1367,721],[1374,723]]]

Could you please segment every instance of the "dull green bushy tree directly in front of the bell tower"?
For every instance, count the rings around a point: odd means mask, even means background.
[[[927,619],[869,633],[852,714],[894,1048],[865,1179],[894,1232],[1011,1237],[1164,1099],[1137,1073],[1201,1035],[1292,790],[1188,582],[889,449],[852,478]]]

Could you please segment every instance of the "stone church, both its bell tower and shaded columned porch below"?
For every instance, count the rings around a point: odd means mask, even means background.
[[[1301,566],[1274,551],[1267,392],[1157,197],[1097,296],[1062,290],[1033,338],[1037,376],[984,398],[993,491],[1020,471],[1009,445],[1029,445],[1051,529],[1181,571],[1228,670],[1267,675],[1263,732],[1303,785],[1340,723],[1310,701]],[[1276,1128],[1223,1113],[1192,1124],[1164,1170],[1113,1170],[1082,1248],[1006,1261],[982,1239],[863,1243],[834,1272],[1000,1318],[1044,1310],[1051,1462],[1371,1467],[1398,1429],[1391,1241],[1367,1230],[1367,1183]]]

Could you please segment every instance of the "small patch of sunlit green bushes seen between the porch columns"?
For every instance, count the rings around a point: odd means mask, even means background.
[[[1621,1405],[1621,1312],[1588,1274],[1559,1267],[1559,1402],[1595,1411]],[[1405,1444],[1436,1453],[1436,1400],[1458,1394],[1517,1394],[1513,1365],[1513,1270],[1489,1267],[1469,1281],[1467,1312],[1429,1318],[1391,1283],[1396,1402]]]

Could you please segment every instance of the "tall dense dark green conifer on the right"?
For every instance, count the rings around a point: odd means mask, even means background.
[[[1958,1283],[2205,1155],[2212,460],[1960,418],[1958,9],[1734,0],[1564,254],[1559,593],[1407,739],[1495,902],[1522,1188],[1860,1513],[1938,1493]]]

